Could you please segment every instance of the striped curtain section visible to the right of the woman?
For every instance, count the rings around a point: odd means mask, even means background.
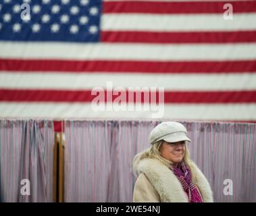
[[[182,123],[193,141],[190,155],[209,180],[215,201],[256,202],[256,124]],[[232,195],[224,192],[228,186]]]

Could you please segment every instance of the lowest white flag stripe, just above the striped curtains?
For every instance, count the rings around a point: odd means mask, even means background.
[[[256,104],[177,105],[164,107],[163,118],[169,119],[243,119],[256,120]],[[91,103],[0,103],[0,117],[7,118],[152,118],[156,111],[93,111]]]

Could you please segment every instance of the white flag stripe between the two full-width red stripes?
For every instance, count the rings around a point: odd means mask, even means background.
[[[166,90],[255,90],[255,74],[0,73],[0,88],[86,90],[96,86],[164,87]]]

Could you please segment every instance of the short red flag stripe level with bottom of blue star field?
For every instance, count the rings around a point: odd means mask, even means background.
[[[238,32],[101,32],[105,43],[250,43],[256,31]]]

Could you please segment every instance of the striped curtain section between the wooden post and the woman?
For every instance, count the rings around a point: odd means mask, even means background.
[[[66,121],[65,202],[128,202],[152,121]]]

